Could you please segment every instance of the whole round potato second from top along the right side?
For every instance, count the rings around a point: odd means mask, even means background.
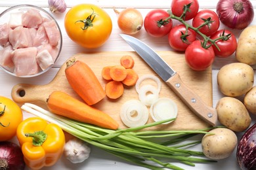
[[[217,74],[219,89],[224,95],[237,97],[253,87],[254,72],[245,63],[230,63],[221,67]]]

